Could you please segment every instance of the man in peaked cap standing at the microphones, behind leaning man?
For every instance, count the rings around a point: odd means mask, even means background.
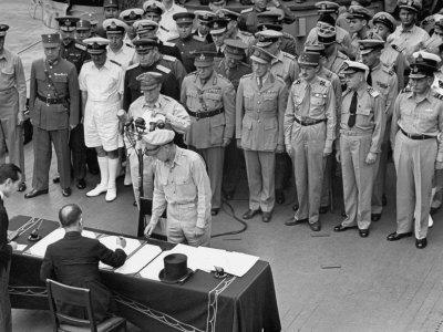
[[[138,117],[145,120],[146,127],[154,131],[157,127],[167,126],[176,133],[184,134],[190,125],[190,118],[185,107],[172,97],[159,93],[162,89],[162,74],[146,72],[136,77],[143,95],[136,98],[127,112],[128,118]],[[131,134],[130,134],[131,135]],[[131,165],[132,184],[135,200],[140,199],[138,157],[135,152],[137,146],[132,146],[127,134],[125,136],[127,156]],[[151,157],[143,156],[143,188],[146,198],[152,199],[154,190],[154,163]]]

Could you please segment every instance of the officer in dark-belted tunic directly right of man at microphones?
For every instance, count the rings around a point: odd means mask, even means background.
[[[181,103],[190,115],[186,144],[205,159],[213,189],[212,214],[222,207],[222,179],[225,147],[230,143],[235,126],[235,90],[233,84],[214,70],[214,51],[195,52],[197,71],[182,83]]]

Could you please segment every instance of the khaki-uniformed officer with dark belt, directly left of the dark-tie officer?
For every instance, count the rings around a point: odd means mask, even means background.
[[[285,144],[293,159],[299,208],[285,225],[309,221],[319,231],[324,157],[332,153],[336,136],[336,96],[331,82],[318,75],[319,53],[302,52],[298,63],[300,79],[289,91],[285,113]]]

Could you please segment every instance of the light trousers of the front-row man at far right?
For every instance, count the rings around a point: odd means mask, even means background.
[[[415,238],[427,235],[427,222],[435,168],[436,139],[411,139],[401,131],[395,136],[396,232],[412,230]]]

